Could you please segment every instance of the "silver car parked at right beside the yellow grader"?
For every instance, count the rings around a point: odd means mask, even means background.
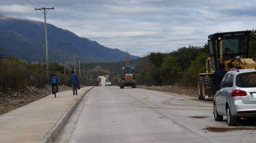
[[[226,73],[217,90],[213,104],[215,121],[227,116],[229,126],[236,126],[239,117],[256,116],[256,69],[235,69]]]

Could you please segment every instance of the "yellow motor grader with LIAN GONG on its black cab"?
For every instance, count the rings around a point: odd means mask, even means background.
[[[252,31],[215,33],[208,36],[210,57],[206,60],[206,73],[200,73],[197,80],[199,100],[213,100],[215,90],[212,77],[220,63],[232,63],[237,69],[255,68],[256,62],[248,58],[249,34]]]

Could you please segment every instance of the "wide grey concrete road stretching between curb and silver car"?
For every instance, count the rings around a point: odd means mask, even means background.
[[[255,142],[254,130],[232,128],[213,117],[212,101],[118,86],[97,86],[72,113],[55,142],[69,143],[234,143]],[[244,127],[244,126],[239,126]]]

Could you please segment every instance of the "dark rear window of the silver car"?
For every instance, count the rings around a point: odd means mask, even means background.
[[[256,73],[239,74],[236,78],[236,85],[240,88],[256,87]]]

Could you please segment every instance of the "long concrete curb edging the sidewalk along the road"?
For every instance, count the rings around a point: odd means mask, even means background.
[[[95,87],[95,86],[94,86]],[[93,88],[94,88],[93,87]],[[91,88],[91,89],[93,89]],[[79,103],[84,98],[85,94],[88,93],[91,89],[88,89],[86,92],[84,92],[70,107],[69,109],[60,117],[60,119],[56,122],[56,124],[52,127],[49,132],[46,133],[46,135],[41,139],[39,143],[52,143],[54,139],[56,138],[57,134],[63,127],[63,125],[68,121],[69,116],[74,111],[74,109],[79,105]]]

